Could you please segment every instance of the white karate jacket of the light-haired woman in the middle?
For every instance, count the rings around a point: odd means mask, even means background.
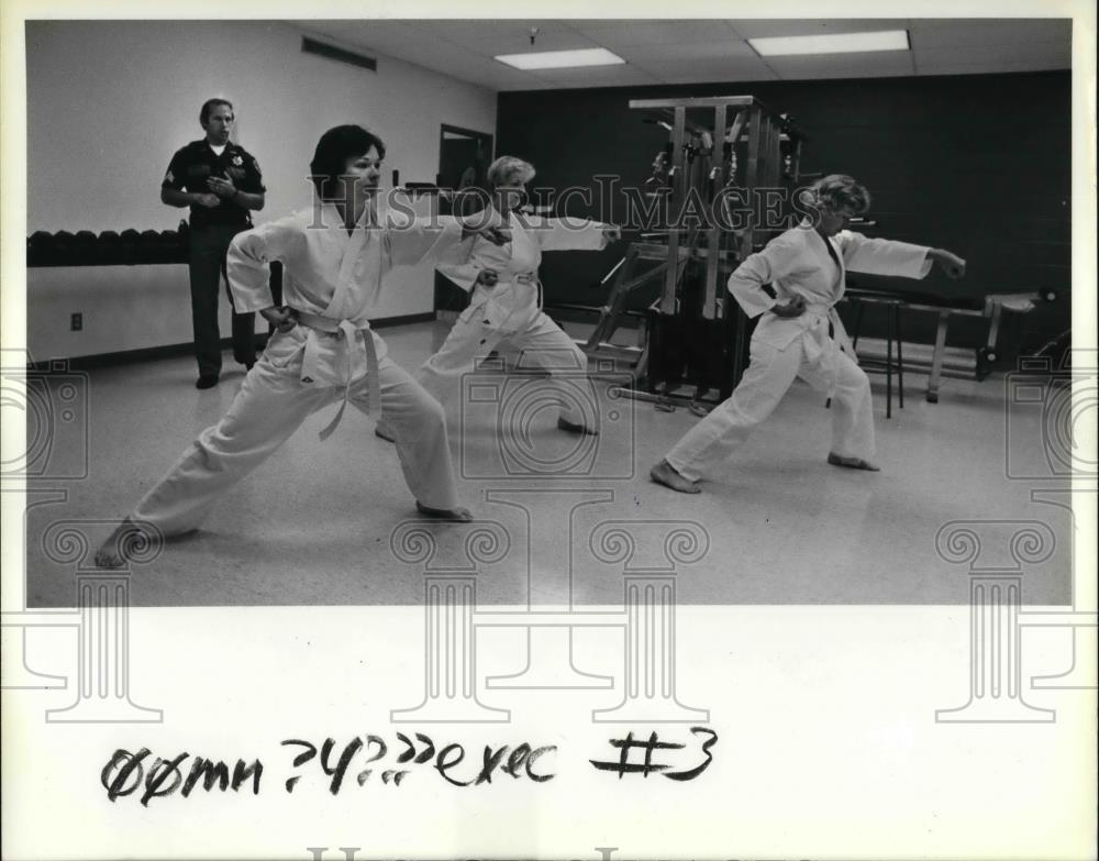
[[[541,313],[539,266],[544,251],[600,251],[607,246],[598,221],[548,219],[509,212],[511,242],[493,245],[476,236],[444,254],[437,269],[467,292],[467,314],[477,313],[493,329],[523,331]],[[482,269],[496,269],[496,287],[477,284]]]

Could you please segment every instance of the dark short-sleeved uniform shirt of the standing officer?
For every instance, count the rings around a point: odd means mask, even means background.
[[[207,185],[207,179],[211,176],[231,179],[234,186],[246,194],[258,195],[267,190],[264,188],[258,162],[243,146],[226,143],[221,155],[218,155],[204,137],[191,141],[182,150],[176,151],[160,186],[191,194],[213,194]],[[191,206],[192,228],[251,223],[248,210],[232,200],[219,198],[217,207]]]

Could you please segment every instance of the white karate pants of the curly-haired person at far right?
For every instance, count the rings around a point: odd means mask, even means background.
[[[851,357],[830,345],[835,367],[832,395],[832,452],[841,457],[874,456],[874,415],[870,382]],[[830,389],[829,362],[820,356],[806,358],[804,339],[798,338],[782,350],[753,340],[751,363],[732,396],[689,430],[665,460],[684,478],[697,482],[712,474],[778,406],[795,377],[814,389]]]

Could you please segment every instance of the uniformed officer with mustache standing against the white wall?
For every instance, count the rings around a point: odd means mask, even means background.
[[[160,186],[169,207],[190,207],[191,317],[198,388],[218,385],[221,374],[221,333],[218,292],[225,275],[225,253],[233,236],[252,227],[251,210],[264,208],[259,165],[243,146],[229,140],[233,106],[210,99],[199,113],[206,137],[176,152]],[[233,295],[226,294],[232,306]],[[256,361],[255,314],[233,313],[233,357],[247,368]]]

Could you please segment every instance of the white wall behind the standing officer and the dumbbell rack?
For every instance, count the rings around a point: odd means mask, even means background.
[[[235,137],[263,168],[257,223],[309,205],[309,161],[333,125],[360,123],[385,140],[385,181],[393,168],[434,179],[441,123],[495,131],[496,93],[385,56],[371,73],[306,55],[302,33],[264,22],[29,22],[27,233],[175,228],[187,210],[160,203],[160,180],[171,154],[202,136],[198,112],[212,96],[235,104]],[[186,266],[168,268],[30,269],[32,357],[189,341]],[[431,310],[423,266],[390,277],[374,317]],[[69,332],[75,311],[84,332]]]

